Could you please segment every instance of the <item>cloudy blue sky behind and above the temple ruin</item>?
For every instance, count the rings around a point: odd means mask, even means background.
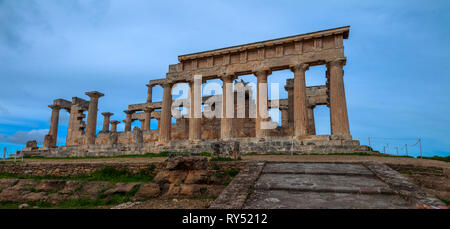
[[[389,152],[422,137],[424,155],[450,155],[448,22],[446,0],[0,0],[0,147],[42,142],[47,105],[87,99],[86,91],[103,92],[99,111],[123,120],[178,55],[350,25],[344,70],[353,137],[413,138],[373,140],[377,149],[389,143]],[[307,83],[322,84],[324,71],[311,68]],[[282,87],[292,77],[276,72],[269,82]],[[161,97],[155,88],[154,100]],[[327,112],[315,111],[322,134]],[[60,143],[68,118],[61,112]],[[99,130],[101,122],[99,115]]]

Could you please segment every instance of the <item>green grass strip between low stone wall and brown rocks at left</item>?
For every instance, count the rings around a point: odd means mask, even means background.
[[[112,167],[105,167],[90,174],[80,175],[76,177],[58,177],[58,176],[29,176],[12,173],[0,173],[1,178],[18,178],[33,180],[83,180],[83,181],[109,181],[117,182],[151,182],[155,177],[154,166],[143,169],[139,173],[134,174],[127,170],[117,170]]]

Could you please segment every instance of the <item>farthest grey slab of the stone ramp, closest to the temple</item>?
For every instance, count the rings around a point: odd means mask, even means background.
[[[374,176],[374,174],[363,165],[349,163],[267,163],[266,166],[264,166],[263,173]]]

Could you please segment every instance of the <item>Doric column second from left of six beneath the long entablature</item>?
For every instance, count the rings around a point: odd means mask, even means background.
[[[202,79],[195,78],[189,82],[189,140],[198,141],[202,138]]]

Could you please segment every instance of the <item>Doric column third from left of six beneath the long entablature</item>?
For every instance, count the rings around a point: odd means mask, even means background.
[[[222,140],[230,140],[233,137],[232,125],[234,118],[234,93],[233,80],[234,75],[226,75],[222,77],[222,117],[220,120],[220,138]]]

